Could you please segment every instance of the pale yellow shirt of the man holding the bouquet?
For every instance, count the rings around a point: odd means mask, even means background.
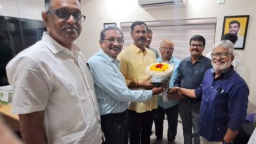
[[[121,51],[117,56],[120,61],[120,70],[124,75],[127,86],[130,82],[144,81],[149,76],[146,74],[146,67],[156,62],[156,54],[152,50],[145,48],[144,52],[137,46],[131,44],[128,48]],[[152,97],[148,101],[131,102],[129,109],[137,111],[137,113],[144,113],[158,108],[158,101],[156,97]]]

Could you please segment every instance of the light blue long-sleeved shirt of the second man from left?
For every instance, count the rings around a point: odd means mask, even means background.
[[[129,101],[146,101],[152,90],[129,90],[119,70],[119,61],[102,49],[89,58],[100,115],[121,113],[128,109]]]

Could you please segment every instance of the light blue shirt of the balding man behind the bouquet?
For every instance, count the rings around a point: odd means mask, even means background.
[[[163,62],[163,60],[161,60],[161,58],[156,59],[156,62]],[[170,79],[170,84],[169,87],[173,87],[175,79],[178,75],[177,73],[177,69],[179,67],[179,63],[181,62],[181,60],[179,60],[178,58],[175,57],[171,57],[171,59],[169,60],[169,63],[171,65],[173,65],[173,74],[171,75],[171,79]],[[175,105],[177,105],[179,103],[178,100],[169,100],[169,101],[163,101],[163,98],[161,96],[158,96],[158,106],[163,107],[163,109],[168,109],[169,107],[173,107]]]

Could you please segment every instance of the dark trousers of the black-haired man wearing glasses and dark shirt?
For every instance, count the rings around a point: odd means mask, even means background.
[[[199,109],[200,101],[180,99],[179,114],[182,120],[184,144],[200,144]],[[194,133],[192,133],[192,130]]]

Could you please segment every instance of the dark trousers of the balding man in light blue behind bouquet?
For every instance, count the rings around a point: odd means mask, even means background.
[[[177,134],[177,126],[178,126],[178,117],[179,117],[178,105],[169,107],[168,109],[163,109],[163,107],[158,106],[158,109],[156,110],[156,117],[154,119],[154,122],[155,122],[155,129],[156,129],[156,137],[158,137],[159,139],[163,138],[163,120],[165,118],[165,114],[168,120],[167,139],[168,141],[174,141]]]

